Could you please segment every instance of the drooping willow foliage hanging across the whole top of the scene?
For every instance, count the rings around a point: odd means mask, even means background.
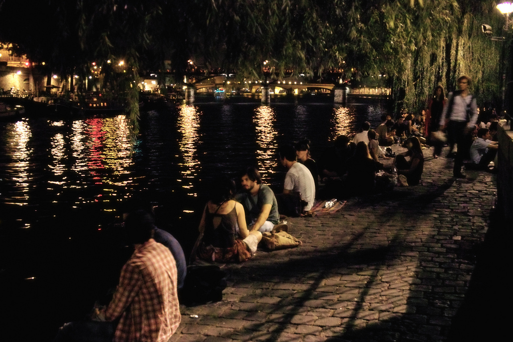
[[[501,27],[502,18],[494,3],[482,0],[47,2],[45,11],[55,13],[57,44],[38,46],[51,50],[45,53],[56,64],[95,60],[111,70],[114,77],[105,79],[126,94],[135,131],[139,70],[164,70],[165,60],[176,79],[185,74],[189,59],[259,79],[322,76],[328,70],[345,77],[384,74],[394,98],[412,110],[426,105],[437,84],[451,89],[460,73],[476,81],[478,100],[498,94],[500,44],[488,41],[480,27]],[[6,3],[16,4],[1,4]],[[14,36],[37,44],[26,34]],[[43,42],[52,42],[47,36]],[[109,69],[109,59],[123,59],[125,72]]]

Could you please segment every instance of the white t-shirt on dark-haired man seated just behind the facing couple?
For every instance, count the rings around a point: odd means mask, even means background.
[[[301,199],[308,202],[305,211],[312,208],[315,200],[315,183],[313,177],[306,166],[298,162],[294,163],[285,175],[285,190],[301,192]]]

